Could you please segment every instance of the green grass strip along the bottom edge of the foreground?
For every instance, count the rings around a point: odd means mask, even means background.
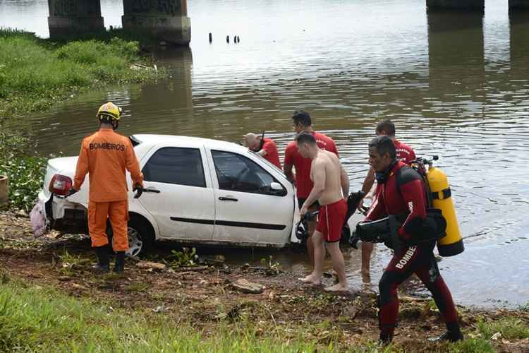
[[[66,257],[65,257],[66,259]],[[76,260],[76,258],[72,258]],[[406,347],[380,347],[365,340],[347,345],[341,330],[320,323],[263,323],[245,316],[206,323],[181,320],[178,304],[154,313],[154,303],[135,310],[116,309],[112,302],[68,297],[55,289],[11,280],[0,285],[0,352],[405,352]],[[129,287],[140,288],[140,284]],[[113,309],[114,308],[114,309]],[[203,324],[203,323],[202,323]],[[494,352],[490,333],[507,333],[517,322],[480,323],[483,338],[439,347],[439,352]],[[315,335],[316,333],[316,335]],[[326,333],[326,334],[324,334]],[[418,348],[418,346],[414,346]],[[427,349],[427,346],[424,347]]]

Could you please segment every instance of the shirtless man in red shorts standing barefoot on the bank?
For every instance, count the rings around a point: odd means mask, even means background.
[[[300,133],[296,138],[298,151],[304,158],[310,158],[310,179],[314,183],[308,198],[301,206],[300,215],[308,212],[312,203],[320,203],[320,214],[316,232],[312,235],[314,244],[314,270],[307,277],[300,278],[305,283],[320,285],[325,258],[325,248],[331,255],[332,267],[338,275],[338,284],[325,288],[336,292],[348,289],[345,264],[340,251],[341,228],[347,213],[347,202],[343,196],[349,194],[349,182],[345,169],[333,152],[317,146],[312,133]]]

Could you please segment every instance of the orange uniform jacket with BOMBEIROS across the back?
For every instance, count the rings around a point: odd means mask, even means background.
[[[90,173],[90,201],[127,200],[125,169],[130,172],[133,185],[142,186],[143,174],[130,140],[112,128],[101,128],[83,139],[73,189],[79,190]]]

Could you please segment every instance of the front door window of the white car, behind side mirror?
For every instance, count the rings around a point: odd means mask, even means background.
[[[237,153],[212,150],[219,189],[250,193],[276,194],[270,189],[277,182],[259,164]]]

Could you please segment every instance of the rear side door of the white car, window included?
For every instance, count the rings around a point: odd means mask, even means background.
[[[212,178],[203,146],[162,145],[142,168],[145,192],[138,199],[156,219],[159,237],[207,241],[215,219]]]

